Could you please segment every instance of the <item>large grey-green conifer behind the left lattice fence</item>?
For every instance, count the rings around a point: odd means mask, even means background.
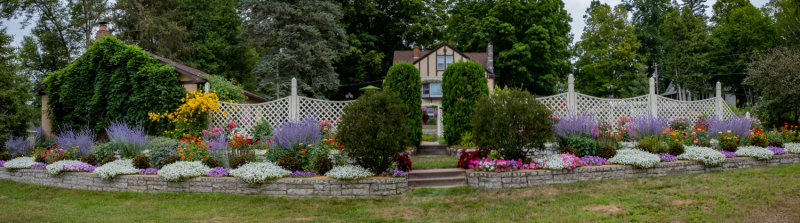
[[[328,0],[242,0],[246,12],[244,35],[261,58],[253,69],[259,88],[280,95],[289,93],[292,77],[299,93],[324,97],[324,91],[339,87],[333,63],[346,52],[346,34],[340,20],[341,6]]]

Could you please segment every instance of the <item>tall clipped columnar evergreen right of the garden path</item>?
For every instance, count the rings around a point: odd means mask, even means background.
[[[465,132],[472,131],[470,118],[473,117],[476,102],[489,94],[489,87],[485,70],[474,61],[450,64],[442,75],[443,114],[440,115],[444,115],[444,139],[448,145],[452,145],[458,143]],[[498,117],[491,115],[487,118]]]

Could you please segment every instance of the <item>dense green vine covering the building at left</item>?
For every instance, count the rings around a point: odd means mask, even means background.
[[[99,131],[109,121],[144,120],[150,112],[174,109],[185,92],[177,77],[172,67],[138,47],[114,37],[99,38],[80,58],[44,80],[52,125]],[[152,134],[167,125],[147,123],[144,128]]]

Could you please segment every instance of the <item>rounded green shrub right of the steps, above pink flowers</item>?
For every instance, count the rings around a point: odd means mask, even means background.
[[[472,115],[475,144],[500,151],[505,159],[524,159],[528,150],[544,149],[544,143],[553,138],[552,113],[528,92],[497,89],[475,106]],[[445,117],[451,114],[445,112]]]

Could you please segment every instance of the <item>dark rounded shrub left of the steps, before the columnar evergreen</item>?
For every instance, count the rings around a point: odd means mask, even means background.
[[[386,170],[408,145],[407,109],[393,93],[366,92],[344,108],[337,135],[343,152],[376,175]]]

